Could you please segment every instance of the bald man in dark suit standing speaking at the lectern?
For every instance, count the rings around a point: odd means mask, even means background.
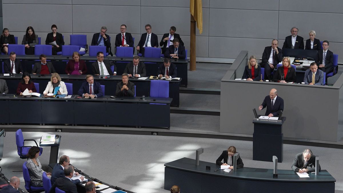
[[[267,107],[265,111],[265,116],[275,117],[279,116],[280,111],[283,111],[283,99],[277,96],[277,90],[272,89],[269,92],[269,96],[266,96],[263,103],[258,107],[258,110],[262,110]]]

